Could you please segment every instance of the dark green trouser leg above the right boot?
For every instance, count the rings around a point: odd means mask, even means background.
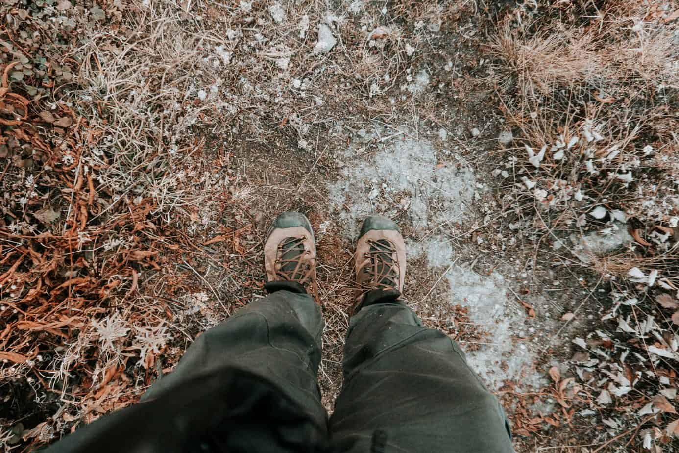
[[[496,397],[444,333],[401,304],[350,320],[344,386],[330,419],[337,452],[513,452]]]

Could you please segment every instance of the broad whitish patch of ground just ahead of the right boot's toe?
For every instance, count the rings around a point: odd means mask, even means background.
[[[462,219],[474,195],[470,168],[439,165],[435,149],[403,131],[390,143],[379,143],[375,156],[361,156],[364,143],[378,139],[365,130],[346,149],[342,178],[329,186],[333,206],[339,209],[344,234],[354,238],[356,223],[369,214],[394,217],[406,211],[412,226],[424,232],[442,223]]]

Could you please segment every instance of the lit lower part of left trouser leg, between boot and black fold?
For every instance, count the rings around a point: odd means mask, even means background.
[[[322,333],[320,307],[310,295],[276,291],[196,338],[175,370],[153,384],[142,400],[193,376],[237,367],[271,380],[304,407],[320,412],[317,374]]]

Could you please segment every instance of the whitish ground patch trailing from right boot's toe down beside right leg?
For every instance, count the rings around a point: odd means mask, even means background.
[[[437,230],[438,225],[467,217],[476,187],[473,170],[452,163],[462,162],[458,156],[447,158],[445,164],[437,156],[433,143],[417,139],[407,128],[356,131],[344,156],[338,156],[342,176],[328,186],[333,221],[341,225],[345,238],[355,240],[367,215],[398,216],[404,226],[405,211],[409,231],[425,238],[406,241],[407,257],[425,257],[437,275],[447,270],[441,282],[447,281],[450,288],[446,302],[469,307],[471,321],[489,333],[477,350],[467,354],[472,369],[494,391],[504,380],[519,376],[522,387],[538,388],[543,374],[535,369],[536,356],[524,342],[514,340],[530,335],[526,312],[513,296],[508,297],[504,277],[497,272],[483,276],[460,266],[450,238]],[[422,304],[418,309],[430,301]]]

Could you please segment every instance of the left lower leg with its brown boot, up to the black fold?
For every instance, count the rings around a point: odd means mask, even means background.
[[[209,329],[186,350],[175,370],[143,400],[219,368],[238,368],[286,388],[300,403],[320,406],[317,384],[323,318],[314,302],[316,246],[300,213],[282,213],[264,247],[270,295]]]

